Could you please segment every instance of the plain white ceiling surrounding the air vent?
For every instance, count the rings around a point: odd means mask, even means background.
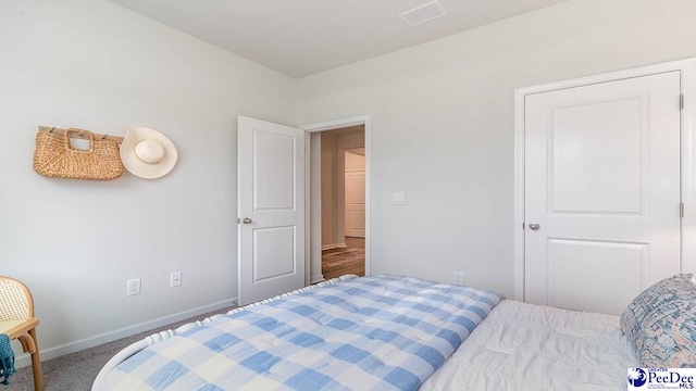
[[[414,27],[399,14],[432,0],[109,1],[297,78],[568,0],[439,0]]]

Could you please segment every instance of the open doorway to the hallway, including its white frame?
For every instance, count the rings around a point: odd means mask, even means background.
[[[338,257],[338,255],[328,256],[332,253],[346,254],[341,256],[344,260],[338,260],[340,267],[337,269],[336,275],[357,274],[368,276],[371,274],[370,115],[334,119],[306,125],[300,128],[307,131],[307,144],[309,146],[307,175],[310,180],[307,184],[307,192],[310,197],[307,198],[306,203],[307,220],[309,222],[306,249],[309,256],[307,258],[306,280],[308,283],[316,283],[335,276],[332,274],[332,265],[328,262],[326,262],[328,268],[324,268],[327,275],[325,276],[322,273],[322,255],[327,255],[326,261],[332,261],[331,257]],[[322,144],[324,147],[323,151]],[[348,164],[346,164],[346,152],[348,153]],[[323,163],[331,163],[333,169],[322,169]],[[360,165],[356,167],[356,163]],[[350,182],[356,181],[356,175],[353,174],[361,171],[360,168],[362,168],[362,176],[364,177],[363,180],[359,181],[362,188],[359,192],[362,192],[364,200],[349,202],[351,205],[348,209],[348,218],[346,218],[345,194],[346,166],[349,167],[348,180]],[[322,177],[327,173],[334,174],[332,179]],[[350,186],[351,184],[349,184]],[[335,200],[325,200],[328,193],[323,190],[334,192],[336,194]],[[356,204],[362,204],[362,210],[358,209]],[[327,218],[333,219],[333,223],[325,224]],[[348,222],[348,229],[346,228],[346,222]],[[356,226],[356,223],[359,225]],[[358,228],[358,232],[355,232],[356,228]],[[351,249],[357,251],[350,251]],[[351,258],[352,261],[346,261]],[[350,263],[363,269],[356,270]]]

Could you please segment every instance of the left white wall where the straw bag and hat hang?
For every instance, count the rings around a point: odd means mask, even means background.
[[[294,93],[286,76],[105,1],[0,2],[0,275],[33,290],[44,360],[235,299],[236,117],[294,125]],[[38,125],[153,127],[178,164],[150,181],[45,178]],[[126,297],[137,277],[142,294]]]

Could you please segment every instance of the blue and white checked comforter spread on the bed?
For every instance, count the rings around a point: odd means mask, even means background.
[[[353,278],[156,343],[102,389],[414,390],[501,299],[415,278]]]

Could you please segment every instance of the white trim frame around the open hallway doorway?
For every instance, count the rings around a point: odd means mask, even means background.
[[[309,283],[315,283],[315,282],[320,282],[321,280],[323,280],[323,276],[321,275],[321,267],[320,267],[320,275],[319,276],[311,276],[311,270],[312,270],[312,264],[319,262],[319,264],[321,265],[321,240],[319,241],[319,243],[314,243],[315,248],[311,247],[310,243],[310,239],[312,237],[312,231],[316,229],[316,227],[319,227],[319,238],[321,238],[321,215],[319,216],[320,219],[319,222],[313,222],[311,219],[311,186],[312,184],[312,178],[311,178],[311,174],[310,174],[310,168],[311,168],[311,162],[310,162],[310,156],[311,156],[311,148],[310,148],[310,137],[312,134],[314,133],[319,133],[319,131],[326,131],[326,130],[335,130],[335,129],[341,129],[341,128],[346,128],[346,127],[351,127],[351,126],[360,126],[362,125],[364,127],[364,138],[365,138],[365,276],[370,275],[370,265],[371,265],[371,257],[370,257],[370,248],[371,248],[371,240],[370,240],[370,209],[371,209],[371,197],[370,197],[370,155],[371,155],[371,143],[370,143],[370,115],[359,115],[359,116],[353,116],[353,117],[347,117],[347,118],[340,118],[340,119],[334,119],[334,121],[328,121],[328,122],[323,122],[323,123],[316,123],[316,124],[308,124],[308,125],[302,125],[302,126],[298,126],[298,128],[302,129],[306,131],[307,134],[307,148],[306,150],[308,151],[307,155],[306,155],[306,160],[307,160],[307,164],[306,164],[306,177],[310,178],[310,180],[307,180],[306,184],[306,207],[304,207],[304,214],[306,214],[306,236],[304,236],[304,241],[306,241],[306,254],[308,254],[308,256],[306,256],[306,267],[304,267],[304,273],[306,273],[306,282]],[[321,203],[321,199],[318,201]],[[320,209],[321,210],[321,209]],[[319,251],[316,251],[319,249]],[[319,256],[316,256],[316,253],[319,253]],[[319,258],[318,258],[319,257]]]

